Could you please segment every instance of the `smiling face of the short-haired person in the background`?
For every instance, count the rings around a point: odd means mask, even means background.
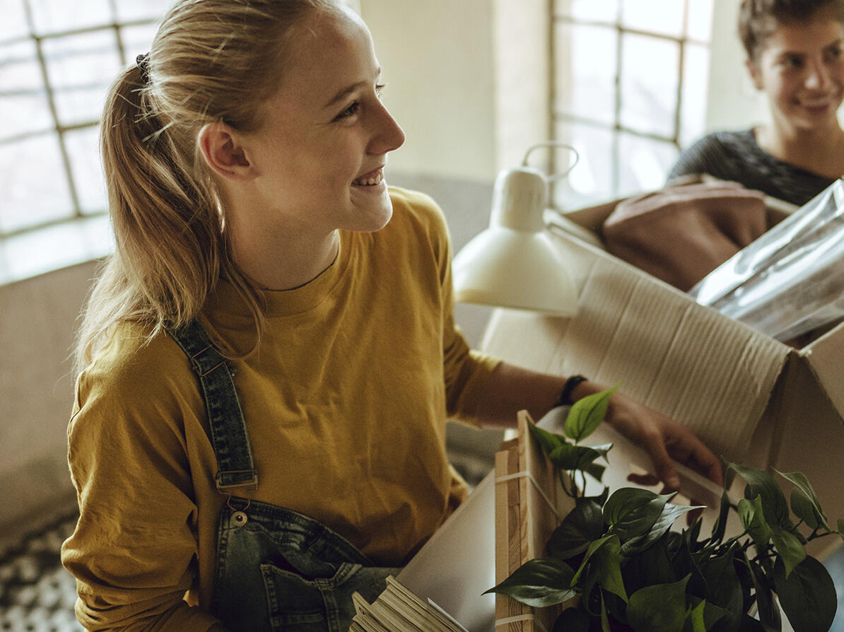
[[[748,68],[776,126],[793,131],[837,125],[844,99],[844,24],[830,14],[780,24]]]

